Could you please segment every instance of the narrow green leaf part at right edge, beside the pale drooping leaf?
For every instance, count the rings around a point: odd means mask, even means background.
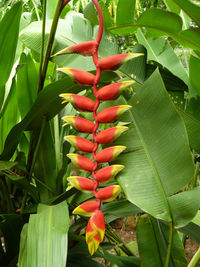
[[[197,94],[200,95],[200,84],[199,84],[200,59],[191,55],[189,66],[190,66],[190,82],[193,88],[196,90]]]

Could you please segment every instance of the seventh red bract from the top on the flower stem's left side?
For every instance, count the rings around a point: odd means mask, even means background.
[[[67,190],[75,187],[80,191],[92,192],[95,187],[94,181],[81,176],[70,176],[67,178],[67,181],[69,182]]]

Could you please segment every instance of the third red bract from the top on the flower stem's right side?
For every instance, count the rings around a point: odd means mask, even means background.
[[[97,120],[101,123],[114,122],[120,117],[120,115],[130,108],[131,106],[129,105],[120,105],[103,109],[97,114]]]

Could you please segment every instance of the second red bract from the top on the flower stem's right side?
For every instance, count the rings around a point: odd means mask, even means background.
[[[99,100],[113,100],[116,99],[124,90],[130,90],[130,86],[135,83],[135,81],[124,81],[119,83],[112,83],[106,85],[99,89],[97,93],[97,98]]]

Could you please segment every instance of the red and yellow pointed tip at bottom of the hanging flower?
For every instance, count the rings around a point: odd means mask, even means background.
[[[103,241],[105,234],[105,220],[101,210],[97,210],[89,219],[86,228],[86,242],[91,255],[99,247],[99,243]]]

